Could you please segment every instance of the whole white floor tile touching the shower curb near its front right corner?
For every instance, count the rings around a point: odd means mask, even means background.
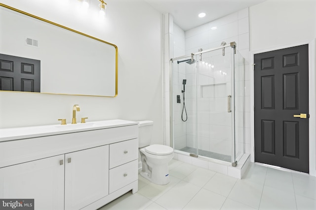
[[[237,179],[227,175],[216,173],[203,188],[216,192],[223,196],[228,196],[234,187]]]

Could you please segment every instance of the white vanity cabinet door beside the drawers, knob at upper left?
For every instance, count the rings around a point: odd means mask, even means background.
[[[65,154],[65,210],[109,194],[109,145]]]

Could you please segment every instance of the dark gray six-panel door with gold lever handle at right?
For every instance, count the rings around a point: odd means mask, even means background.
[[[255,161],[309,173],[308,45],[254,62]]]

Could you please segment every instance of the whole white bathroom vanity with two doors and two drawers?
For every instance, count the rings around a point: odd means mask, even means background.
[[[114,122],[9,141],[0,135],[0,198],[35,199],[35,210],[96,210],[137,192],[138,125]]]

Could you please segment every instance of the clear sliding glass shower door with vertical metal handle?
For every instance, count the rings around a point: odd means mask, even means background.
[[[196,56],[197,148],[198,155],[232,162],[234,66],[232,49],[224,49]]]

